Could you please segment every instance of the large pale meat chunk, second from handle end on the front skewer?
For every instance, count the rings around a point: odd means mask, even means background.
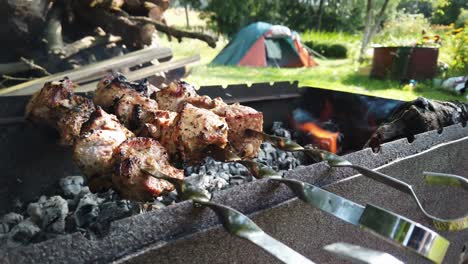
[[[88,177],[90,187],[94,180],[100,181],[103,178],[107,178],[110,185],[112,153],[122,142],[133,136],[132,132],[119,123],[117,117],[100,107],[91,114],[89,120],[83,124],[73,150],[73,158]],[[105,189],[110,186],[96,187]]]

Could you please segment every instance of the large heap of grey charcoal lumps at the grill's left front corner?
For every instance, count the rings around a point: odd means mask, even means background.
[[[41,196],[22,214],[0,218],[0,249],[41,242],[66,233],[104,235],[112,221],[141,212],[140,203],[121,199],[113,190],[94,194],[83,176],[59,181],[60,195]]]

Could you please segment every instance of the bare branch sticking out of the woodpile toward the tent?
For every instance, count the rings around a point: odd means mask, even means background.
[[[164,25],[163,23],[158,22],[148,17],[129,16],[127,17],[127,19],[133,22],[140,22],[140,23],[147,23],[147,24],[154,25],[156,27],[156,30],[175,37],[179,42],[182,41],[182,38],[193,38],[193,39],[199,39],[201,41],[206,42],[208,46],[212,48],[216,47],[217,38],[214,38],[210,35],[206,35],[206,34],[198,33],[198,32],[179,30],[179,29]]]

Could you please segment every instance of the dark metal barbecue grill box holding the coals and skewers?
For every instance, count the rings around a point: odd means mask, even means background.
[[[298,88],[297,83],[254,84],[204,87],[201,94],[220,96],[226,102],[242,102],[264,113],[265,127],[273,121],[291,121],[298,106],[314,114],[317,102],[332,105],[354,102],[349,109],[369,109],[381,106],[388,114],[402,102],[352,95],[321,89]],[[345,99],[343,99],[345,98]],[[346,98],[354,98],[346,99]],[[356,98],[361,98],[357,100]],[[365,100],[364,100],[364,99]],[[15,199],[32,201],[53,187],[63,176],[79,174],[71,160],[69,149],[57,146],[56,135],[48,129],[36,129],[22,122],[24,106],[29,97],[2,97],[0,112],[0,145],[2,152],[0,180],[0,213],[7,212]],[[344,101],[343,101],[344,100]],[[350,101],[351,100],[351,101]],[[314,104],[315,102],[315,104]],[[387,109],[388,108],[388,109]],[[375,110],[377,109],[377,110]],[[378,111],[375,108],[373,111]],[[336,107],[336,111],[340,111]],[[346,109],[342,109],[346,111]],[[369,112],[369,111],[367,111]],[[363,118],[361,114],[355,115]],[[367,117],[366,117],[367,118]],[[367,118],[368,119],[368,118]],[[382,122],[385,116],[374,116]],[[358,124],[359,122],[355,122]],[[392,175],[413,185],[422,203],[435,215],[459,217],[468,211],[468,194],[449,187],[429,187],[423,183],[423,171],[439,171],[463,175],[468,171],[468,128],[461,124],[429,131],[414,138],[403,138],[380,146],[374,153],[362,147],[371,134],[370,127],[350,128],[343,143],[344,157],[353,164]],[[354,142],[354,144],[352,144]],[[357,142],[357,143],[356,143]],[[7,150],[7,151],[5,151]],[[324,162],[286,172],[288,178],[302,180],[362,204],[372,203],[425,226],[431,223],[418,210],[411,197],[390,189],[346,168],[330,168]],[[251,215],[267,233],[317,263],[337,263],[339,260],[323,250],[323,246],[343,241],[381,250],[406,263],[424,263],[422,257],[383,243],[368,232],[314,209],[295,198],[284,185],[267,180],[246,183],[214,193],[213,200]],[[456,263],[468,241],[468,231],[439,232],[450,240],[446,263]],[[243,240],[234,238],[220,227],[216,215],[207,208],[194,208],[189,201],[156,211],[131,216],[112,223],[108,233],[88,239],[81,233],[59,236],[3,252],[6,263],[275,263],[277,260]]]

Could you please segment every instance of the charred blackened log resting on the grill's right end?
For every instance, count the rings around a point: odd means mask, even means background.
[[[365,147],[378,148],[382,143],[412,137],[430,130],[468,120],[468,104],[417,98],[391,114],[388,121],[374,132]]]

